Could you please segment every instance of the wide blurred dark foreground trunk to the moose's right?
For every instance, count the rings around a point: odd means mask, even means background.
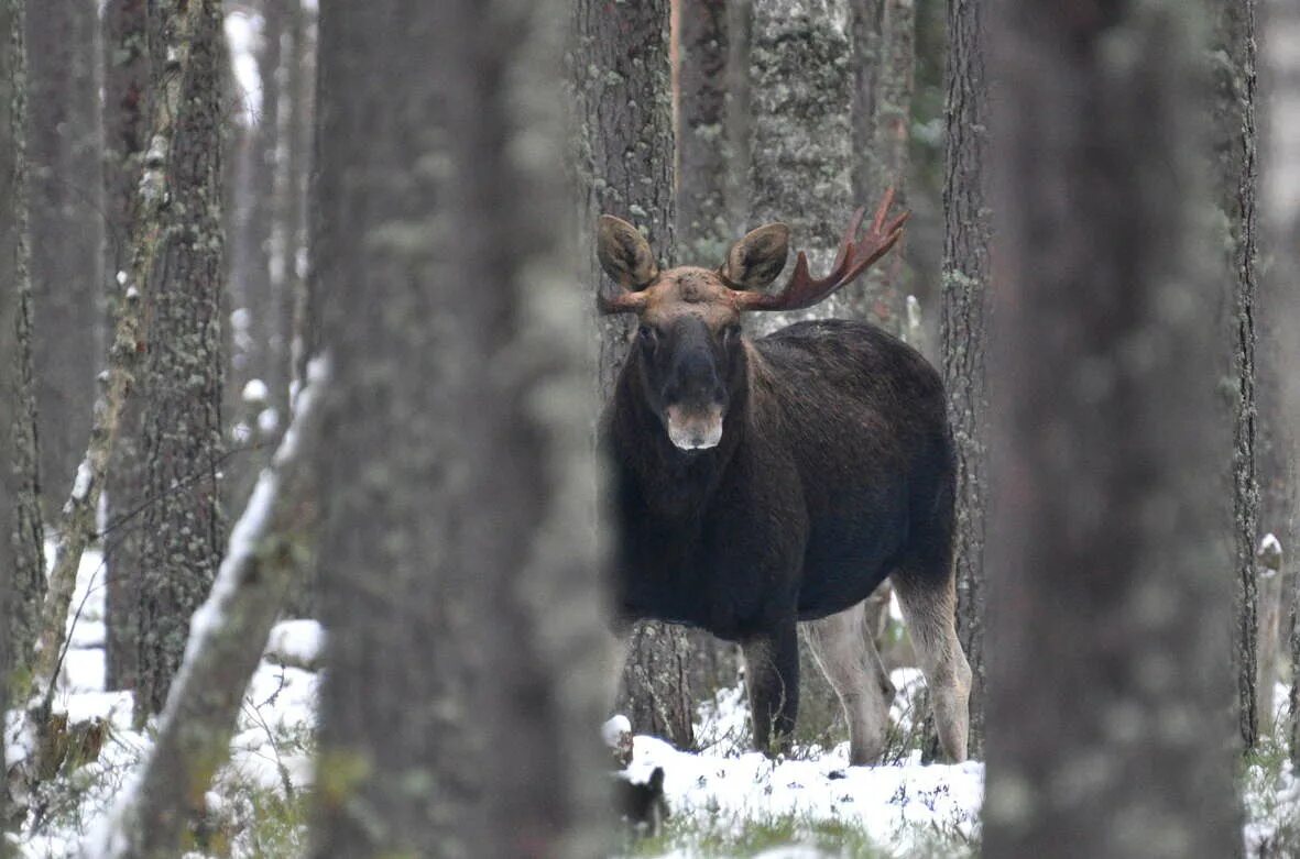
[[[1201,53],[1186,4],[1080,8],[998,0],[988,27],[1004,196],[984,855],[1231,856]]]

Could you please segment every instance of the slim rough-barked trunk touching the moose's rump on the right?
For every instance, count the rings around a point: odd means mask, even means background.
[[[971,665],[970,752],[984,747],[985,333],[992,239],[988,178],[987,0],[948,6],[942,325],[948,420],[957,446],[957,634]]]

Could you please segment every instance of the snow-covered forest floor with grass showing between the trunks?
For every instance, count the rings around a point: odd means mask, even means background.
[[[104,587],[98,554],[87,554],[73,600],[70,648],[56,710],[69,723],[100,730],[94,747],[32,798],[21,833],[9,836],[30,859],[79,856],[114,798],[151,746],[152,728],[131,729],[130,693],[104,691]],[[244,698],[231,760],[208,793],[209,846],[204,856],[304,855],[307,794],[312,784],[320,647],[315,621],[286,621],[272,639]],[[911,713],[923,689],[918,672],[893,673],[896,741],[889,762],[849,767],[848,743],[797,746],[781,760],[748,751],[740,687],[701,707],[699,751],[680,752],[637,737],[621,776],[645,781],[664,769],[670,817],[653,838],[629,840],[620,856],[971,856],[979,851],[984,767],[920,763]],[[1284,694],[1280,700],[1286,700]],[[13,765],[27,754],[10,713],[5,739]],[[1243,768],[1248,854],[1300,855],[1300,781],[1282,750],[1265,742]]]

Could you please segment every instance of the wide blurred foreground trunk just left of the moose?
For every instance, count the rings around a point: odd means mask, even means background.
[[[604,854],[564,21],[321,4],[322,859]]]

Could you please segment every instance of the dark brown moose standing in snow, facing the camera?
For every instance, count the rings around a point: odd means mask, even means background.
[[[634,343],[601,420],[619,537],[616,626],[686,624],[740,642],[755,746],[788,747],[798,633],[844,707],[850,763],[884,752],[893,685],[862,603],[893,581],[944,752],[966,758],[971,672],[954,625],[956,459],[942,382],[911,347],[844,320],[751,339],[742,314],[811,307],[902,235],[888,191],[859,209],[831,273],[806,255],[779,291],[789,227],[760,226],[718,269],[660,270],[630,224],[604,214],[602,313],[634,313]]]

